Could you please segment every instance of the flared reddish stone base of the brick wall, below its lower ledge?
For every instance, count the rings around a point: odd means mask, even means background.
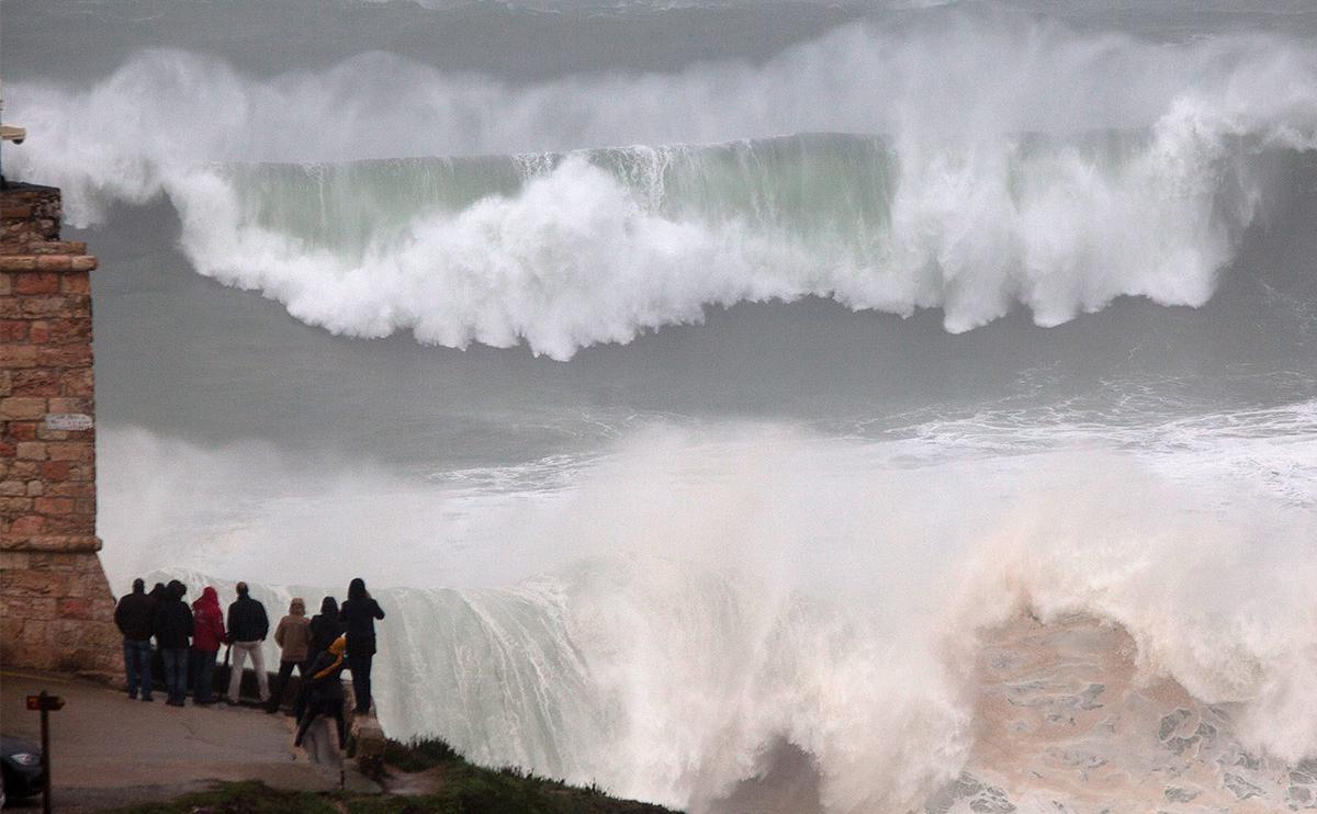
[[[0,664],[78,673],[103,681],[124,674],[115,601],[95,551],[0,552]]]

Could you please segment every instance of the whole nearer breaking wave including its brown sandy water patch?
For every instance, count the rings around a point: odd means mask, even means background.
[[[1246,437],[1239,419],[1222,436]],[[1310,470],[1313,404],[1255,420],[1309,428],[1237,454]],[[375,591],[386,728],[695,811],[1301,802],[1312,782],[1285,778],[1310,774],[1317,746],[1314,495],[1259,490],[1164,433],[1143,454],[1094,441],[930,460],[914,441],[656,431],[500,498],[270,466],[315,497],[200,553],[161,532],[200,508],[175,495],[250,477],[259,453],[129,433],[107,457],[162,499],[107,518],[150,552],[108,564],[184,562],[195,585],[296,573],[265,591],[271,607],[333,590],[349,561],[491,585]],[[362,562],[352,543],[412,524],[483,556]],[[312,547],[323,562],[281,558]]]

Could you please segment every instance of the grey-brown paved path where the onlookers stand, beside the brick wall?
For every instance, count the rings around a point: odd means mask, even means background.
[[[41,690],[66,702],[51,713],[50,730],[58,811],[167,800],[215,780],[311,792],[340,784],[337,768],[315,765],[292,747],[292,719],[282,714],[179,709],[167,706],[162,693],[144,703],[122,690],[55,674],[0,673],[0,731],[40,743],[40,714],[28,711],[26,697]]]

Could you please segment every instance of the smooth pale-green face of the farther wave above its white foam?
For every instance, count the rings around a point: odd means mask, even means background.
[[[636,205],[677,221],[739,223],[755,233],[860,256],[882,245],[894,155],[874,136],[805,134],[697,146],[632,146],[335,165],[225,165],[245,225],[360,259],[415,224],[515,196],[568,158],[606,170]]]

